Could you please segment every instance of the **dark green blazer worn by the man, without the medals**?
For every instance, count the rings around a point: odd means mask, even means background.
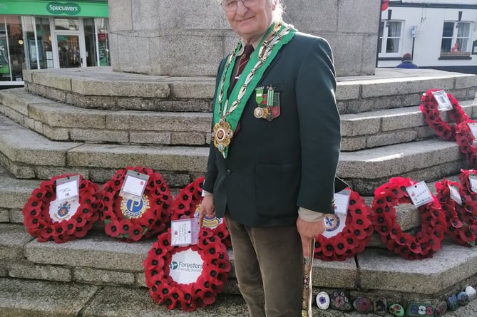
[[[216,90],[224,67],[225,59]],[[255,118],[252,93],[226,159],[211,142],[203,188],[213,193],[216,216],[228,209],[241,224],[272,227],[294,224],[298,207],[334,214],[341,133],[327,41],[295,33],[257,87],[267,93],[269,85],[279,93],[279,116]]]

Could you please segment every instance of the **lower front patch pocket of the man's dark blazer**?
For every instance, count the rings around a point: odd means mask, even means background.
[[[291,217],[297,214],[299,164],[255,165],[257,213],[262,217]]]

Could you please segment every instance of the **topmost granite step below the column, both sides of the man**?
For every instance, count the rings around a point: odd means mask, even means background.
[[[24,71],[26,90],[94,109],[210,111],[215,78],[148,76],[108,67]],[[477,76],[432,69],[376,68],[373,76],[337,78],[340,113],[419,105],[421,93],[439,88],[458,100],[475,98]]]

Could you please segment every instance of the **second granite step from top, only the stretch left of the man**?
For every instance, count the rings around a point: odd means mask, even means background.
[[[197,145],[210,140],[212,113],[78,108],[29,93],[0,91],[0,114],[53,141]]]

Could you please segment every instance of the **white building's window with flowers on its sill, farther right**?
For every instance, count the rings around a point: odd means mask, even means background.
[[[470,36],[471,24],[469,22],[444,22],[441,56],[470,56]]]

